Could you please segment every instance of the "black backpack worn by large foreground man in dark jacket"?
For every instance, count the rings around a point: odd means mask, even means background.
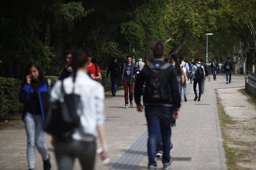
[[[146,85],[147,101],[148,103],[164,103],[170,98],[171,86],[167,68],[171,64],[167,62],[163,66],[156,67],[149,63],[147,66],[150,69]]]

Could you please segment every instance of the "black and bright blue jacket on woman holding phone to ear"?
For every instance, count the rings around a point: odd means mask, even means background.
[[[40,82],[37,93],[39,98],[39,104],[40,104],[40,110],[42,113],[42,119],[45,121],[45,115],[47,113],[47,109],[49,106],[49,89],[52,88],[52,82],[50,84],[48,83],[47,79],[42,79]],[[24,104],[24,110],[22,114],[22,120],[24,120],[24,117],[27,112],[27,108],[30,104],[30,96],[32,93],[35,93],[35,89],[32,87],[32,85],[29,84],[23,84],[22,88],[20,89],[20,102]]]

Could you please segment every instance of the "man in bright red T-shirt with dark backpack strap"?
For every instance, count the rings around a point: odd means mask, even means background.
[[[89,57],[89,60],[87,61],[89,63],[89,76],[93,80],[100,81],[101,78],[101,69],[99,68],[99,65],[96,63],[91,62],[92,61],[92,53],[90,51],[85,51],[86,56]]]

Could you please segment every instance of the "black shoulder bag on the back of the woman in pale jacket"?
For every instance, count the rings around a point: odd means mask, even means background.
[[[80,117],[77,109],[80,105],[80,96],[73,91],[66,94],[61,82],[61,97],[58,101],[50,102],[46,120],[43,125],[45,132],[53,136],[65,136],[71,134],[73,129],[80,125]]]

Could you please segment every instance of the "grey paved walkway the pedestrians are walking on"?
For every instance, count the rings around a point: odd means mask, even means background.
[[[193,84],[187,87],[187,102],[181,106],[180,118],[172,128],[171,150],[173,164],[177,170],[225,170],[224,151],[216,108],[216,88],[244,86],[244,76],[232,75],[232,83],[226,84],[224,75],[217,75],[217,81],[206,82],[201,102],[194,101]],[[237,94],[238,97],[240,94]],[[147,124],[144,113],[136,108],[124,109],[124,91],[116,97],[106,95],[106,134],[111,152],[111,163],[102,165],[96,161],[96,170],[147,169]],[[0,169],[26,170],[26,133],[24,125],[0,130]],[[46,145],[52,157],[52,169],[56,170],[50,136]],[[98,146],[99,147],[99,146]],[[36,167],[42,169],[42,160],[36,151]],[[75,170],[80,169],[76,162]],[[158,161],[158,169],[163,166]]]

